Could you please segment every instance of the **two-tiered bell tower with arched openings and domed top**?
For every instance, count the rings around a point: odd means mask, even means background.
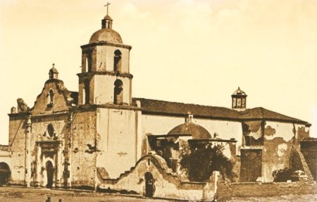
[[[101,30],[94,32],[89,44],[82,48],[82,72],[79,77],[79,104],[111,104],[130,106],[132,75],[131,46],[123,44],[120,34],[112,29],[107,14]]]

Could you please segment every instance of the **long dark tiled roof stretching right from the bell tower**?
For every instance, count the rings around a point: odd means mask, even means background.
[[[235,111],[230,108],[218,106],[202,106],[192,103],[177,103],[170,101],[159,101],[154,99],[133,98],[132,101],[141,102],[143,113],[187,116],[188,112],[198,118],[214,118],[220,120],[275,120],[282,122],[294,122],[307,124],[304,120],[282,115],[266,108],[250,108],[245,111]]]

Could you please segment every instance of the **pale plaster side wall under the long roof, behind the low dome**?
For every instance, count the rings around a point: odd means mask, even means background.
[[[141,106],[142,107],[142,106]],[[174,127],[185,122],[185,118],[173,117],[166,115],[142,115],[142,134],[143,139],[147,139],[148,134],[168,134]],[[220,139],[237,140],[236,153],[240,154],[242,145],[242,126],[241,122],[225,121],[225,120],[209,120],[202,118],[194,118],[193,122],[206,128],[213,136],[217,135]],[[146,151],[143,151],[146,154]]]

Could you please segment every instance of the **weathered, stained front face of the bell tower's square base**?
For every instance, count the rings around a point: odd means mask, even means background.
[[[73,113],[70,179],[72,187],[94,187],[96,174],[96,111]]]

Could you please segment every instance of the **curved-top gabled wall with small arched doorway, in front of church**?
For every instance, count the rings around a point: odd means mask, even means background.
[[[200,201],[211,201],[215,187],[213,182],[182,182],[179,177],[172,175],[165,160],[160,156],[144,156],[138,161],[135,168],[121,175],[113,181],[100,182],[99,188],[118,191],[133,191],[145,195],[146,179],[145,174],[150,172],[154,179],[154,197],[177,198]],[[214,181],[213,177],[211,181]]]

